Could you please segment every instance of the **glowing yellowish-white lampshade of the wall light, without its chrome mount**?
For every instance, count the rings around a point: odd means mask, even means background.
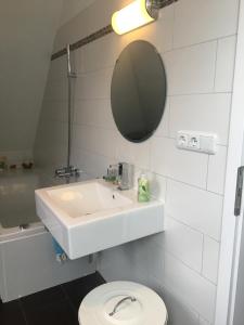
[[[154,22],[146,11],[145,0],[136,0],[112,16],[112,26],[118,35]]]

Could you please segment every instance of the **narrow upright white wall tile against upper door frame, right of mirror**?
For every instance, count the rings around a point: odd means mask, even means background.
[[[218,41],[215,91],[228,92],[233,88],[236,37]]]

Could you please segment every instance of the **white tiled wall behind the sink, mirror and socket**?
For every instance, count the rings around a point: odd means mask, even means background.
[[[127,3],[91,4],[60,28],[54,51],[107,25]],[[73,55],[73,162],[93,177],[111,162],[132,162],[137,172],[147,171],[153,195],[165,200],[165,233],[101,252],[99,271],[107,281],[156,289],[172,325],[214,324],[237,12],[239,0],[180,0],[156,23],[108,35]],[[156,46],[168,79],[162,123],[141,144],[119,134],[110,103],[116,57],[134,39]],[[66,157],[65,60],[52,62],[36,140],[36,158],[50,170]],[[177,150],[182,129],[217,133],[217,154]]]

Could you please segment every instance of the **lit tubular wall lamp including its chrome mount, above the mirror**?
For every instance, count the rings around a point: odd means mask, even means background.
[[[160,8],[176,1],[178,0],[134,0],[113,14],[113,29],[118,35],[123,35],[150,24],[158,18]]]

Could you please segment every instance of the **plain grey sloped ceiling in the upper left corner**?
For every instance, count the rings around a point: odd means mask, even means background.
[[[0,152],[31,150],[63,0],[1,0]]]

